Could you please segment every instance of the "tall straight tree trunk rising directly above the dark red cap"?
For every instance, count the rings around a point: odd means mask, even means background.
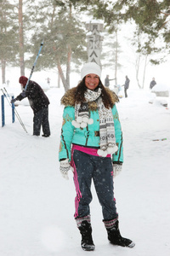
[[[25,63],[24,63],[22,0],[19,0],[19,50],[20,50],[20,75],[24,76],[25,75]]]

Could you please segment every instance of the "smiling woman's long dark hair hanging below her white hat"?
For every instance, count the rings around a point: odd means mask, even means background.
[[[105,86],[102,84],[101,80],[99,79],[99,85],[97,88],[101,88],[101,97],[102,101],[104,102],[105,108],[112,108],[113,103],[111,101],[111,95],[105,90]],[[76,95],[75,99],[77,103],[85,102],[84,93],[87,90],[86,84],[85,84],[85,77],[80,81],[80,83],[77,85]]]

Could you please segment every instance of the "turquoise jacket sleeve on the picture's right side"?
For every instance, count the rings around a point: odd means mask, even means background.
[[[116,105],[112,108],[114,125],[115,125],[115,136],[116,136],[116,145],[118,150],[115,154],[112,154],[112,161],[113,162],[123,162],[123,139],[122,139],[122,127],[119,120],[119,115],[116,109]]]

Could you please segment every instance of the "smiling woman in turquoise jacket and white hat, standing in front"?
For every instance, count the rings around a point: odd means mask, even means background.
[[[130,239],[120,234],[113,176],[121,172],[122,129],[116,110],[118,98],[100,81],[101,70],[94,62],[81,70],[77,87],[67,90],[61,98],[65,106],[59,145],[60,172],[68,179],[72,168],[77,191],[75,214],[82,235],[82,249],[94,251],[89,204],[91,183],[99,198],[103,222],[111,244],[133,247]]]

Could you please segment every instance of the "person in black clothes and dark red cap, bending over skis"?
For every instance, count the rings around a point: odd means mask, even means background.
[[[20,77],[19,83],[21,84],[23,89],[25,89],[27,81],[28,79],[25,76]],[[48,123],[48,96],[45,95],[39,84],[30,80],[26,90],[23,90],[20,95],[16,96],[16,98],[13,99],[11,102],[14,103],[16,101],[22,101],[26,97],[28,98],[30,106],[34,113],[33,135],[40,135],[42,125],[42,137],[49,137],[50,129]]]

